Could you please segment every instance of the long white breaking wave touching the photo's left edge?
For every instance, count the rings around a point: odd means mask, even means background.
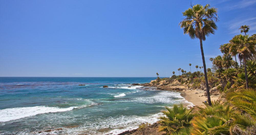
[[[71,111],[73,109],[81,109],[91,105],[72,106],[68,108],[48,107],[48,106],[33,106],[33,107],[17,107],[0,110],[0,122],[25,118],[37,114],[56,113]]]

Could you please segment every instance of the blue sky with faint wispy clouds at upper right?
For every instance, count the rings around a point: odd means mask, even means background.
[[[186,1],[0,0],[0,76],[160,77],[202,66],[198,39],[178,25]],[[218,8],[203,42],[207,68],[241,25],[256,33],[255,0],[200,0]]]

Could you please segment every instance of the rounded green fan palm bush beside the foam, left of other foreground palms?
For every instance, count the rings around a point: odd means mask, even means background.
[[[159,117],[161,126],[159,131],[174,133],[182,131],[185,127],[190,127],[190,120],[193,118],[193,109],[183,107],[182,104],[174,105],[173,107],[165,107],[162,116]]]

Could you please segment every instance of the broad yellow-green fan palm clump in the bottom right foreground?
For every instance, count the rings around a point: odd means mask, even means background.
[[[233,134],[233,128],[237,127],[246,130],[246,127],[255,124],[250,116],[238,113],[228,102],[212,102],[212,105],[206,104],[206,107],[199,107],[196,117],[191,120],[193,127],[192,135],[210,135],[210,134]]]

